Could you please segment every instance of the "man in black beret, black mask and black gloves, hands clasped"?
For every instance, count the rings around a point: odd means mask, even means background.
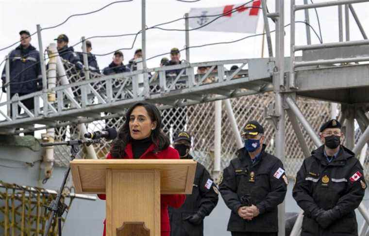
[[[355,154],[340,145],[335,119],[320,128],[324,145],[306,158],[297,173],[293,197],[304,210],[301,236],[357,236],[354,210],[367,187]]]

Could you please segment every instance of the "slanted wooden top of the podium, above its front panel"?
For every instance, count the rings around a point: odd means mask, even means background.
[[[161,194],[191,194],[196,161],[188,159],[74,159],[76,193],[105,193],[105,170],[158,170]]]

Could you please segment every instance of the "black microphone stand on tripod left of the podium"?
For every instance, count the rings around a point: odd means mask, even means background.
[[[100,140],[71,140],[71,141],[67,141],[67,142],[46,142],[46,143],[41,143],[41,146],[42,147],[49,147],[49,146],[56,146],[56,145],[70,146],[70,160],[72,161],[72,160],[74,160],[74,158],[76,157],[78,151],[80,150],[79,145],[86,144],[87,146],[89,146],[89,145],[95,144],[95,143],[100,143]],[[56,196],[56,199],[51,201],[49,206],[44,206],[46,209],[51,211],[51,216],[50,216],[50,218],[49,218],[49,220],[46,224],[44,236],[49,235],[51,223],[52,223],[52,220],[54,219],[55,215],[57,215],[57,217],[58,217],[58,235],[62,236],[62,216],[64,214],[64,211],[67,209],[67,205],[64,204],[64,203],[62,204],[60,202],[60,199],[62,198],[62,192],[63,192],[63,189],[66,185],[69,172],[70,172],[70,166],[68,166],[68,169],[64,174],[64,179],[63,179],[63,182],[62,182],[62,186],[59,189],[59,192]]]

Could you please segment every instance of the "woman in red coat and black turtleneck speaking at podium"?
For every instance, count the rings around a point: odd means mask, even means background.
[[[179,159],[177,150],[169,147],[169,139],[161,129],[162,119],[159,110],[146,102],[135,103],[127,110],[124,125],[107,155],[107,159]],[[105,194],[98,195],[105,200]],[[168,205],[179,208],[185,202],[185,195],[161,195],[160,216],[161,236],[170,235]],[[105,236],[105,221],[104,231]]]

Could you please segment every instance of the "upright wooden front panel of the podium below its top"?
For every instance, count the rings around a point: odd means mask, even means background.
[[[144,222],[150,236],[160,236],[159,171],[106,172],[106,236],[117,236],[117,229],[136,222]]]

